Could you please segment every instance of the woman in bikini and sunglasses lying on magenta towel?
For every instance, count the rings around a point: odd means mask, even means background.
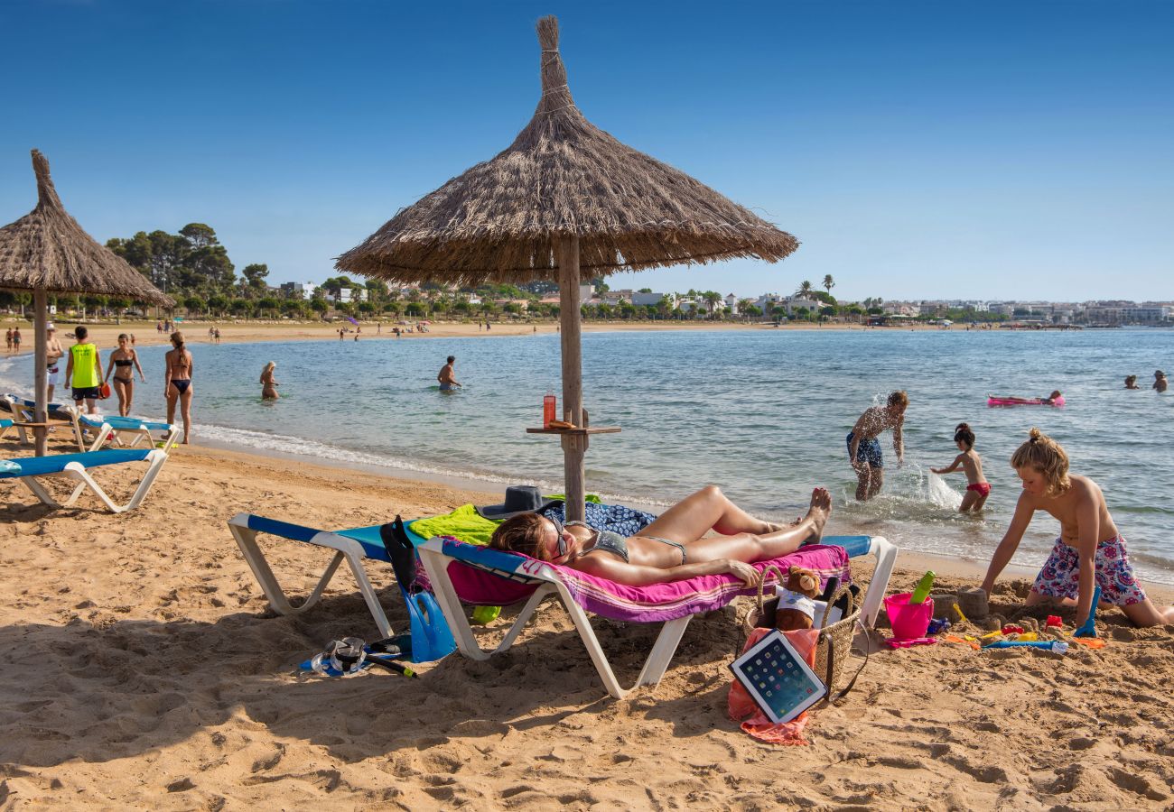
[[[803,519],[790,526],[772,525],[745,513],[710,485],[627,539],[581,522],[564,526],[537,513],[522,513],[498,526],[490,547],[632,587],[722,573],[754,587],[760,574],[751,562],[777,559],[804,542],[819,541],[830,513],[831,495],[816,488]],[[706,536],[710,530],[718,535]]]

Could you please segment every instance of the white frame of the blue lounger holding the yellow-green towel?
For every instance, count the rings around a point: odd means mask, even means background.
[[[348,566],[351,568],[351,574],[355,576],[356,583],[358,583],[359,591],[363,594],[363,600],[366,602],[367,609],[371,611],[371,617],[375,618],[376,625],[379,627],[379,634],[384,637],[391,637],[394,635],[391,623],[387,621],[387,614],[383,610],[383,604],[379,603],[379,596],[376,594],[375,587],[371,584],[371,580],[367,577],[366,570],[363,567],[363,560],[367,556],[363,552],[363,546],[359,542],[326,530],[319,530],[310,537],[294,539],[295,541],[304,541],[308,544],[315,544],[316,547],[324,547],[326,549],[335,550],[335,556],[330,560],[330,563],[323,571],[322,577],[318,578],[318,584],[313,588],[313,591],[311,591],[310,595],[306,596],[301,603],[295,604],[285,597],[285,591],[282,589],[282,584],[277,581],[277,576],[274,575],[274,570],[269,566],[265,554],[257,544],[258,533],[270,533],[271,535],[283,539],[291,536],[283,536],[279,533],[272,533],[272,530],[266,527],[250,527],[250,519],[268,521],[264,517],[255,516],[251,513],[238,513],[229,519],[228,527],[229,530],[232,532],[236,546],[241,548],[244,560],[249,562],[249,568],[252,569],[252,575],[257,578],[257,583],[261,584],[262,591],[265,593],[265,598],[269,601],[269,604],[275,611],[279,615],[299,615],[303,611],[311,609],[322,598],[323,590],[325,590],[331,578],[335,577],[335,573],[338,571],[338,566],[345,560]],[[391,564],[389,563],[387,566],[390,567]]]

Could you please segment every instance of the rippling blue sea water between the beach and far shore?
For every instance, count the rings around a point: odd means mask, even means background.
[[[547,390],[561,392],[556,336],[195,344],[193,351],[195,442],[472,478],[487,489],[532,482],[561,490],[558,440],[525,433],[540,425]],[[136,413],[163,415],[163,352],[140,350],[149,384],[139,387]],[[436,384],[448,354],[465,384],[452,393]],[[282,399],[262,402],[257,379],[270,360]],[[592,422],[623,429],[592,439],[588,489],[609,501],[668,505],[714,482],[751,512],[789,519],[823,485],[836,502],[835,533],[882,534],[902,547],[985,561],[1018,496],[1007,460],[1039,426],[1067,448],[1075,473],[1101,485],[1141,576],[1174,584],[1174,393],[1148,388],[1154,370],[1172,366],[1168,330],[587,333]],[[1146,388],[1126,391],[1129,373]],[[0,390],[28,392],[31,381],[27,357],[0,361]],[[858,505],[844,437],[862,410],[893,388],[910,395],[906,463],[896,467],[883,435],[884,493]],[[1053,388],[1064,392],[1064,408],[986,406],[989,393]],[[963,420],[978,435],[993,485],[981,517],[954,512],[966,483],[960,473],[929,471],[953,459],[953,428]],[[387,505],[389,515],[394,509]],[[1057,529],[1037,516],[1014,561],[1038,567]]]

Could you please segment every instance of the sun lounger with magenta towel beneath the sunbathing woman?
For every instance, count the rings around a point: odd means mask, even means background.
[[[799,566],[817,571],[822,581],[835,575],[846,582],[849,547],[859,555],[877,554],[884,548],[892,550],[893,557],[896,554],[896,548],[883,539],[849,536],[844,542],[845,544],[841,544],[838,539],[825,539],[823,544],[803,547],[790,555],[758,562],[754,567],[761,570],[774,563],[785,573],[788,567]],[[660,682],[694,614],[726,605],[737,595],[751,594],[740,580],[730,575],[706,575],[650,587],[627,587],[569,567],[446,537],[429,539],[419,548],[419,554],[461,654],[474,659],[487,659],[507,650],[542,598],[555,595],[571,615],[607,692],[618,699],[640,685],[656,685]],[[888,578],[882,582],[879,575],[878,566],[878,574],[873,575],[868,590],[872,602],[877,603],[884,596],[888,583]],[[772,583],[772,577],[768,578],[768,584]],[[506,605],[524,600],[526,604],[505,638],[493,650],[481,649],[461,603]],[[869,600],[865,598],[865,602],[868,604]],[[663,623],[640,676],[630,689],[622,688],[616,679],[585,610],[620,621]]]

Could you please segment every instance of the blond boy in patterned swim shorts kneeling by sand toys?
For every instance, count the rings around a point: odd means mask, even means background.
[[[1023,480],[1023,493],[986,570],[983,589],[987,594],[1019,547],[1032,516],[1046,510],[1060,521],[1060,535],[1035,576],[1027,605],[1048,597],[1067,603],[1075,600],[1080,628],[1088,620],[1099,584],[1101,602],[1121,607],[1136,625],[1174,623],[1174,607],[1159,609],[1138,583],[1125,539],[1113,523],[1100,487],[1087,476],[1068,474],[1068,455],[1055,440],[1032,428],[1027,442],[1011,456],[1011,467]]]

